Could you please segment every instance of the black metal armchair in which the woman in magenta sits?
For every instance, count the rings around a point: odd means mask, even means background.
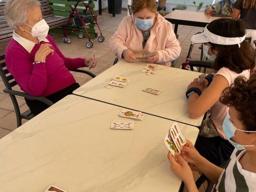
[[[94,73],[92,73],[90,71],[87,71],[87,70],[76,69],[74,71],[86,73],[86,74],[90,75],[92,78],[96,77],[96,75]],[[41,102],[44,102],[48,106],[53,105],[53,102],[50,101],[49,99],[45,98],[45,97],[31,96],[27,93],[20,92],[20,91],[15,91],[15,90],[12,89],[14,86],[17,85],[17,82],[15,81],[14,77],[10,74],[10,72],[8,71],[8,69],[6,67],[5,60],[4,60],[4,55],[0,55],[0,76],[2,78],[2,81],[3,81],[4,85],[5,85],[5,89],[3,89],[3,92],[6,93],[6,94],[9,94],[9,96],[11,97],[11,100],[12,100],[12,103],[13,103],[13,106],[14,106],[14,110],[15,110],[15,113],[16,113],[17,127],[20,127],[22,125],[22,119],[30,120],[34,117],[34,115],[32,114],[31,110],[28,110],[28,111],[21,114],[16,96],[22,96],[22,97],[26,97],[26,98],[29,98],[29,99],[39,100]]]

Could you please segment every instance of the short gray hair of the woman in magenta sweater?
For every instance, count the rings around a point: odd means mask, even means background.
[[[40,6],[38,0],[7,0],[4,8],[5,20],[13,30],[17,30],[18,25],[28,22],[28,10],[35,6]]]

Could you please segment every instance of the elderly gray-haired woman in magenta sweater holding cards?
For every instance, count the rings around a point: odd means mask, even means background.
[[[38,0],[7,0],[5,19],[13,29],[5,49],[7,69],[21,89],[54,103],[79,87],[69,70],[88,66],[91,58],[66,58],[48,34]],[[97,61],[94,61],[93,67]],[[25,98],[34,115],[48,106]]]

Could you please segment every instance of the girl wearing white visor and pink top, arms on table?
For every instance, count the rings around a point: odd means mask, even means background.
[[[245,23],[242,20],[218,19],[211,22],[204,32],[193,35],[193,43],[203,43],[209,55],[215,55],[215,73],[205,77],[201,84],[197,79],[186,92],[191,118],[198,118],[211,110],[210,118],[203,121],[195,148],[216,165],[228,160],[234,147],[225,137],[222,125],[227,106],[219,98],[226,87],[234,83],[237,76],[249,79],[254,68],[254,51],[245,41]]]

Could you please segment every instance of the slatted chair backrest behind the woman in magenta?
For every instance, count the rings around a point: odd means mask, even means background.
[[[6,88],[11,90],[13,86],[17,85],[14,77],[10,74],[6,67],[4,55],[0,55],[0,76]]]

